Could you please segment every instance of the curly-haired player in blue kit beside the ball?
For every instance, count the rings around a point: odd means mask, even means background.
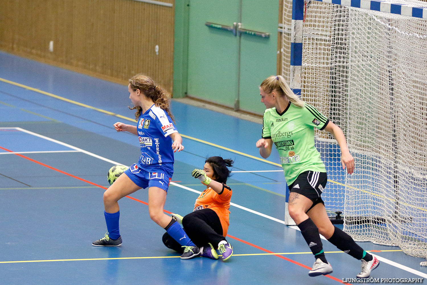
[[[168,94],[151,78],[141,74],[129,79],[128,91],[134,105],[131,109],[136,109],[137,125],[117,122],[114,128],[117,132],[126,131],[138,136],[141,156],[124,172],[126,175],[120,175],[105,191],[104,215],[108,232],[92,245],[117,247],[122,244],[117,202],[141,188],[148,188],[150,218],[184,247],[181,259],[190,259],[199,254],[199,248],[187,237],[179,223],[163,212],[173,175],[173,155],[184,149],[169,110]]]

